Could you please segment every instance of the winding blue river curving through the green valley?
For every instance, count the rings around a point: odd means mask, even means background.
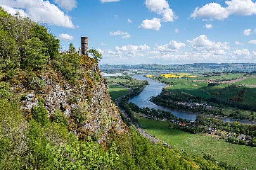
[[[135,75],[131,76],[137,80],[147,80],[149,81],[149,85],[145,87],[139,95],[133,97],[132,99],[129,100],[129,102],[135,103],[138,107],[143,108],[143,107],[149,107],[150,109],[155,108],[155,109],[161,109],[165,110],[168,112],[171,112],[174,114],[176,117],[180,117],[182,119],[187,119],[187,120],[195,120],[196,116],[204,116],[207,118],[214,117],[216,119],[221,119],[224,122],[234,122],[237,121],[242,124],[252,124],[256,125],[256,122],[253,121],[245,121],[245,120],[238,120],[238,119],[230,119],[227,117],[217,117],[217,116],[209,116],[209,115],[204,115],[204,114],[197,114],[197,113],[192,113],[192,112],[185,112],[181,110],[174,110],[174,109],[169,109],[160,105],[156,105],[152,102],[150,102],[150,98],[153,96],[157,96],[162,92],[163,87],[166,86],[166,84],[157,82],[155,80],[152,80],[150,78],[146,78],[143,75]]]

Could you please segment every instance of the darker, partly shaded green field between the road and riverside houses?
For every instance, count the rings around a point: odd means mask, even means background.
[[[173,126],[173,123],[169,123],[167,120],[161,122],[145,117],[137,117],[138,125],[145,126],[144,131],[156,136],[157,139],[164,141],[168,145],[176,145],[180,141],[191,136],[190,133],[180,131],[179,129],[170,128],[169,124]]]

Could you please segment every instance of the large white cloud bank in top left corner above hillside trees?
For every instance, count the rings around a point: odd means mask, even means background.
[[[35,22],[45,22],[49,25],[67,28],[75,27],[71,17],[49,1],[2,0],[0,6],[12,15],[19,10],[22,16],[27,16]]]

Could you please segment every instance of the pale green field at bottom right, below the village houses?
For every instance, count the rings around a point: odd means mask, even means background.
[[[231,144],[213,134],[193,134],[174,147],[183,149],[190,155],[203,156],[203,153],[211,153],[218,162],[227,162],[246,170],[256,169],[255,147]]]

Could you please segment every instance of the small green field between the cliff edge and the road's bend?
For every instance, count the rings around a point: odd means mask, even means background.
[[[112,100],[117,99],[118,97],[125,95],[129,92],[127,88],[121,87],[116,84],[109,83],[109,94]]]

